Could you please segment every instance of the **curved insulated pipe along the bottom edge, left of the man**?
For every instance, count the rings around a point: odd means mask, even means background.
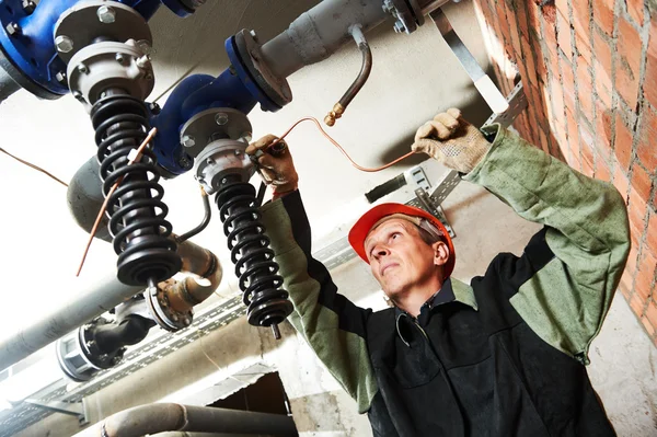
[[[168,430],[298,436],[292,418],[283,414],[155,403],[113,414],[76,437],[141,437]]]

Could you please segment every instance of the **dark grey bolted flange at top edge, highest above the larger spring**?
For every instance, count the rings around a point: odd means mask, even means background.
[[[92,44],[128,39],[151,46],[153,37],[143,16],[117,1],[78,2],[55,25],[55,45],[65,62]]]

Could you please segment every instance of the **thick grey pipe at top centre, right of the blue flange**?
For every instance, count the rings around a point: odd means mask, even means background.
[[[333,55],[350,39],[354,25],[367,32],[388,16],[380,0],[324,0],[265,43],[262,54],[269,70],[285,79]]]

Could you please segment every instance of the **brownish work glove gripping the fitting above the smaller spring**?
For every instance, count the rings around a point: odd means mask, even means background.
[[[278,142],[276,151],[269,150],[272,142],[277,139],[278,137],[274,135],[265,135],[246,148],[246,153],[257,159],[260,173],[265,184],[274,188],[274,197],[293,192],[299,183],[299,175],[295,170],[290,151],[287,146],[280,147],[285,142]]]

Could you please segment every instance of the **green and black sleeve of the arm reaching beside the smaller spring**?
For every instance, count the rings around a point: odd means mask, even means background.
[[[339,295],[326,267],[312,257],[310,226],[298,191],[261,211],[295,307],[288,320],[356,400],[358,411],[367,412],[378,391],[366,342],[371,310]]]

